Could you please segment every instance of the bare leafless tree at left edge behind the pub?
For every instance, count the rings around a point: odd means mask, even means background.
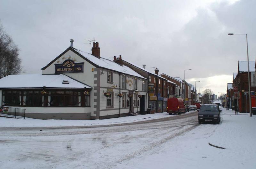
[[[0,78],[21,72],[18,46],[6,34],[0,23]]]

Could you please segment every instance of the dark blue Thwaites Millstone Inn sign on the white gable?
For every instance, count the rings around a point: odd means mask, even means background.
[[[55,64],[55,73],[84,72],[84,63],[75,63],[73,60],[65,60],[62,64]]]

